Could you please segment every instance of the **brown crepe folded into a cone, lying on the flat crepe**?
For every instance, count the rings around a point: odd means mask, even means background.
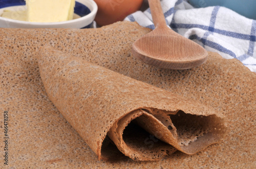
[[[99,159],[195,154],[225,132],[223,115],[197,101],[51,47],[37,60],[49,98]]]

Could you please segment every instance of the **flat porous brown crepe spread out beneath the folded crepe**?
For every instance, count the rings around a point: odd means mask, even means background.
[[[13,168],[254,168],[255,73],[237,60],[209,52],[191,70],[163,70],[131,56],[132,43],[150,32],[136,23],[100,29],[0,29],[0,107],[9,110]],[[35,59],[40,46],[53,46],[166,91],[208,104],[226,116],[227,136],[195,155],[176,152],[159,161],[98,161],[48,98]],[[1,117],[3,118],[3,117]],[[1,124],[3,128],[3,124]],[[1,154],[3,154],[3,143]],[[3,163],[1,164],[3,165]]]

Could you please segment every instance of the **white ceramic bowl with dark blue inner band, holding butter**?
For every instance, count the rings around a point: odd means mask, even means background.
[[[5,0],[0,3],[0,16],[5,9],[25,10],[25,0]],[[74,18],[62,22],[28,22],[0,17],[0,27],[13,28],[90,28],[94,21],[97,4],[93,0],[76,0]]]

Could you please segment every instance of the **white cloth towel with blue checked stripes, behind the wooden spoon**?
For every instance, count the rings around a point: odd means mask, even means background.
[[[185,0],[162,0],[166,23],[180,35],[225,59],[238,59],[256,72],[256,20],[224,7],[193,8]],[[137,11],[124,20],[154,29],[150,9]]]

